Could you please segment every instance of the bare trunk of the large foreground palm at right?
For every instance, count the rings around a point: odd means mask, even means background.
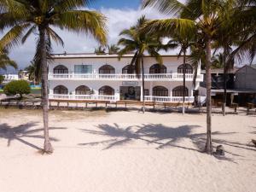
[[[211,38],[207,37],[206,55],[206,79],[207,79],[207,143],[205,152],[212,154],[212,75],[211,75]]]

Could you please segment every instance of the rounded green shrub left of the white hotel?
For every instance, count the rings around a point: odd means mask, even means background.
[[[8,96],[20,94],[20,97],[22,98],[22,94],[29,94],[31,89],[26,80],[15,80],[6,84],[3,88],[3,92]]]

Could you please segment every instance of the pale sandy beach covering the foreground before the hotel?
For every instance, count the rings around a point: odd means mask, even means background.
[[[51,112],[55,153],[42,155],[41,113],[1,109],[0,191],[255,192],[256,148],[246,144],[256,137],[256,117],[212,117],[213,144],[224,145],[224,160],[199,152],[205,120],[197,114]]]

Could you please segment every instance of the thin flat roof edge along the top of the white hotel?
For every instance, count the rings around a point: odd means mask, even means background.
[[[134,54],[122,55],[121,57],[132,58]],[[161,55],[162,57],[177,57],[177,55]],[[94,54],[94,53],[74,53],[74,54],[52,54],[53,59],[70,59],[70,58],[118,58],[117,54]],[[150,55],[145,55],[144,57],[152,57]]]

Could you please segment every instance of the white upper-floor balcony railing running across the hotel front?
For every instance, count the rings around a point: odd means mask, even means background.
[[[192,81],[194,74],[185,74],[186,80]],[[49,80],[135,80],[141,81],[141,74],[79,74],[79,73],[49,73]],[[163,81],[175,81],[182,80],[183,73],[158,73],[158,74],[144,74],[146,81],[163,80]],[[203,75],[197,75],[197,80],[202,81]]]

